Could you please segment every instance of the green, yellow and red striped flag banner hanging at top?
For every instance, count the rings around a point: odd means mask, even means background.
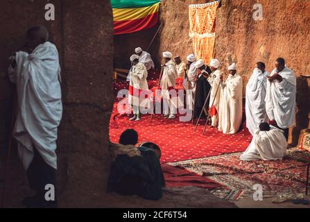
[[[160,0],[111,0],[114,35],[151,28],[158,22]]]

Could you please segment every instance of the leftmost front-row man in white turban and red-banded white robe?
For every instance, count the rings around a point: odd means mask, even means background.
[[[130,121],[139,121],[141,119],[140,105],[143,103],[144,98],[141,95],[141,90],[148,91],[148,71],[143,63],[139,62],[139,56],[132,55],[130,57],[132,67],[130,69],[130,83],[129,83],[129,94],[128,101],[133,107],[134,116],[130,118]]]

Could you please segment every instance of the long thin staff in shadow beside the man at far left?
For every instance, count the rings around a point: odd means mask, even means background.
[[[1,207],[3,207],[5,193],[6,193],[6,180],[7,180],[8,169],[9,169],[9,164],[10,164],[10,154],[12,150],[12,139],[13,139],[12,134],[13,134],[14,126],[15,126],[16,112],[17,112],[17,92],[15,92],[13,105],[12,105],[11,128],[10,128],[10,134],[8,135],[8,155],[6,157],[6,168],[4,169],[3,186],[1,190],[1,203],[0,203]]]

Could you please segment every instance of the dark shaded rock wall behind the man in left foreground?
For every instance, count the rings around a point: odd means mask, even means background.
[[[109,0],[49,1],[55,21],[44,20],[46,1],[0,3],[0,119],[10,119],[12,85],[5,78],[6,60],[25,40],[27,28],[44,24],[60,52],[64,114],[58,139],[60,206],[91,206],[92,196],[105,193],[110,158],[108,121],[112,110],[112,10]],[[9,123],[0,132],[8,132]],[[1,140],[6,139],[6,137]],[[0,187],[7,146],[0,147]],[[6,206],[19,206],[28,191],[24,171],[12,148]]]

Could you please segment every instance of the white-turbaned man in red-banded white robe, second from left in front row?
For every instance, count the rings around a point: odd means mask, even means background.
[[[164,99],[164,117],[175,119],[178,107],[178,97],[175,91],[175,78],[178,78],[178,71],[174,62],[171,60],[172,53],[166,51],[163,53],[165,64],[160,87]]]

